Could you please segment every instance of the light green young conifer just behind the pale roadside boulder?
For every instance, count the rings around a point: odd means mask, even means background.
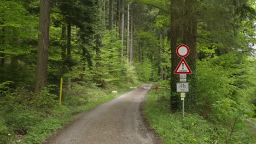
[[[101,55],[96,60],[94,67],[94,77],[98,85],[104,82],[117,84],[122,81],[121,70],[124,66],[121,64],[123,59],[120,58],[121,41],[118,39],[117,32],[106,31],[106,35],[102,39]]]

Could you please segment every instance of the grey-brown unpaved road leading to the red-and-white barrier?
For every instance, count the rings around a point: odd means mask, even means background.
[[[139,109],[148,91],[135,89],[82,113],[45,143],[161,143],[148,130]]]

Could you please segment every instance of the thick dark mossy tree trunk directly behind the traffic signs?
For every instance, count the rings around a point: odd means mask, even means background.
[[[185,58],[193,72],[187,75],[189,81],[189,93],[185,98],[186,111],[193,110],[196,97],[196,1],[174,0],[171,3],[171,112],[176,112],[181,107],[180,94],[176,92],[176,83],[179,82],[179,75],[174,74],[181,58],[177,56],[178,45],[189,46],[189,56]]]

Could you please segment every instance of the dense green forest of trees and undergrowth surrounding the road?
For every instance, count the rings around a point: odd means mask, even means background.
[[[111,91],[152,82],[144,109],[163,143],[255,143],[255,55],[254,0],[1,0],[0,143],[42,143]]]

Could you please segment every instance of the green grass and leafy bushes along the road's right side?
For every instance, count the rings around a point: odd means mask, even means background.
[[[197,64],[195,111],[170,113],[170,83],[159,82],[166,88],[144,105],[150,127],[163,143],[255,143],[255,58],[231,52]]]

